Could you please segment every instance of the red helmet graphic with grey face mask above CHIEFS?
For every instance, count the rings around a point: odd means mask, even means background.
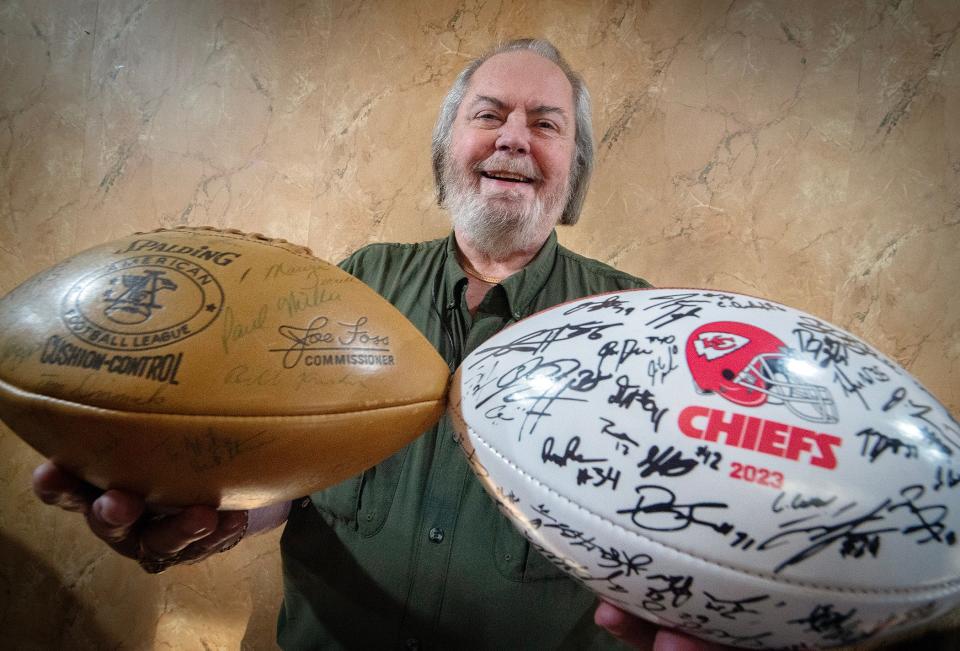
[[[785,343],[746,323],[714,321],[687,339],[687,365],[702,391],[745,407],[783,404],[805,420],[836,423],[830,392],[791,373],[789,361]]]

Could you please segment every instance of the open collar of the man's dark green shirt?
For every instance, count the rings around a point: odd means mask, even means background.
[[[530,316],[532,305],[536,297],[540,294],[550,273],[553,271],[554,262],[557,259],[557,232],[550,231],[550,236],[540,251],[534,256],[526,267],[513,274],[500,286],[506,295],[507,303],[510,309],[510,315],[514,319],[522,319]],[[467,276],[460,268],[457,261],[457,241],[451,232],[447,238],[447,264],[444,270],[444,283],[447,289],[448,302],[450,307],[458,300],[462,293],[460,283],[466,284]]]

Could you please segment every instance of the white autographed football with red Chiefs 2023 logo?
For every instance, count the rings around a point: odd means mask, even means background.
[[[570,302],[469,355],[450,407],[531,544],[654,622],[824,647],[960,601],[960,426],[798,310],[678,289]]]

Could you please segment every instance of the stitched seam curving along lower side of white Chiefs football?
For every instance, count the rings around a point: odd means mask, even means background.
[[[461,420],[463,420],[463,415],[460,414],[460,416],[461,416]],[[463,420],[463,422],[465,423],[466,421]],[[546,490],[548,493],[550,493],[550,494],[552,494],[552,495],[555,495],[556,497],[560,498],[561,500],[563,500],[563,501],[566,502],[567,504],[573,506],[575,509],[577,509],[577,510],[579,510],[579,511],[583,511],[583,512],[586,513],[588,516],[593,517],[593,518],[596,518],[597,520],[603,522],[604,524],[607,524],[607,525],[613,527],[614,529],[618,529],[618,530],[620,530],[621,532],[626,533],[626,534],[629,535],[629,536],[636,536],[636,537],[638,537],[638,538],[642,538],[643,540],[647,541],[649,544],[651,544],[651,545],[653,545],[653,546],[655,546],[655,547],[662,548],[662,549],[667,550],[667,551],[669,551],[669,552],[672,552],[672,553],[674,553],[674,554],[679,554],[679,555],[681,555],[681,556],[687,556],[687,557],[689,557],[689,558],[696,559],[696,560],[698,560],[698,561],[700,561],[700,562],[702,562],[702,563],[706,563],[706,564],[708,564],[708,565],[714,565],[714,566],[717,566],[717,567],[722,567],[722,568],[727,569],[727,570],[730,570],[730,571],[732,571],[732,572],[739,572],[739,573],[742,573],[742,574],[746,574],[746,575],[749,575],[749,576],[756,577],[756,578],[758,578],[758,579],[763,579],[764,581],[770,581],[770,582],[772,582],[772,583],[785,583],[785,584],[792,585],[792,586],[796,586],[796,587],[800,587],[800,588],[814,588],[814,589],[816,589],[816,590],[823,590],[823,591],[825,591],[825,592],[841,592],[841,593],[848,593],[848,594],[854,594],[854,595],[856,595],[856,594],[864,594],[864,595],[868,595],[868,594],[875,594],[875,595],[907,594],[907,595],[923,595],[923,596],[926,596],[925,593],[927,593],[927,592],[935,592],[935,591],[936,591],[936,592],[942,593],[942,594],[939,595],[939,597],[946,597],[946,596],[949,596],[951,593],[955,593],[955,592],[956,592],[956,588],[957,588],[957,587],[960,587],[960,579],[953,579],[953,580],[947,581],[947,582],[945,582],[945,583],[936,583],[936,584],[933,584],[932,586],[925,586],[925,587],[921,587],[921,588],[869,589],[869,588],[843,588],[843,587],[825,586],[825,585],[821,585],[821,584],[818,584],[818,583],[809,583],[809,582],[805,582],[805,581],[802,581],[802,580],[797,580],[797,579],[792,579],[792,578],[787,578],[787,577],[770,576],[770,575],[767,575],[767,574],[762,574],[762,573],[757,572],[757,571],[753,571],[753,570],[749,570],[749,569],[743,569],[743,568],[739,568],[739,567],[736,567],[736,566],[733,566],[733,565],[728,565],[728,564],[723,563],[723,562],[719,562],[719,561],[715,561],[715,560],[712,560],[712,559],[704,558],[704,557],[702,557],[702,556],[698,556],[697,554],[693,554],[693,553],[691,553],[691,552],[684,551],[684,550],[678,549],[678,548],[676,548],[676,547],[671,547],[671,546],[669,546],[669,545],[667,545],[667,544],[665,544],[665,543],[662,543],[662,542],[659,542],[659,541],[657,541],[657,540],[654,540],[653,538],[650,538],[650,537],[648,537],[648,536],[645,536],[645,535],[643,535],[643,534],[641,534],[641,533],[638,533],[638,532],[635,532],[635,531],[631,531],[631,530],[623,527],[622,525],[617,524],[616,522],[613,522],[613,521],[611,521],[611,520],[608,520],[607,518],[603,517],[602,515],[600,515],[600,514],[598,514],[598,513],[594,513],[593,511],[590,511],[590,510],[588,510],[588,509],[580,506],[579,504],[577,504],[576,502],[574,502],[573,500],[571,500],[569,497],[563,495],[562,493],[558,492],[558,491],[555,490],[554,488],[552,488],[552,487],[548,486],[547,484],[543,483],[542,481],[540,481],[540,480],[537,479],[536,477],[530,475],[529,473],[527,473],[526,471],[524,471],[522,468],[520,468],[519,466],[517,466],[515,463],[513,463],[512,461],[510,461],[510,459],[508,459],[508,458],[507,458],[506,456],[504,456],[501,452],[499,452],[497,449],[495,449],[493,446],[491,446],[491,445],[486,441],[486,439],[484,439],[482,436],[480,436],[479,434],[477,434],[476,431],[474,431],[474,429],[473,429],[472,427],[470,427],[469,425],[467,426],[467,429],[469,430],[471,436],[474,437],[474,439],[475,439],[476,441],[479,441],[479,442],[480,442],[485,448],[487,448],[492,454],[494,454],[495,456],[499,457],[505,464],[507,464],[508,466],[510,466],[511,468],[513,468],[515,471],[517,471],[517,473],[520,474],[520,476],[522,476],[524,479],[526,479],[526,480],[529,481],[529,482],[532,482],[532,483],[536,484],[537,486],[539,486],[539,487],[541,487],[542,489]],[[478,460],[478,461],[479,461],[479,460]],[[926,596],[926,598],[934,598],[934,597],[937,597],[937,595],[931,594],[931,595]]]

